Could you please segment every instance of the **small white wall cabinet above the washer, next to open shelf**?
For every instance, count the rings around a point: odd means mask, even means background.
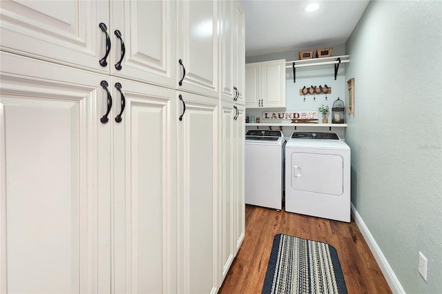
[[[247,108],[285,108],[285,59],[246,64]]]

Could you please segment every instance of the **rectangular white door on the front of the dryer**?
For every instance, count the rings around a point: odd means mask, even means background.
[[[329,195],[343,194],[343,157],[292,153],[291,188]]]

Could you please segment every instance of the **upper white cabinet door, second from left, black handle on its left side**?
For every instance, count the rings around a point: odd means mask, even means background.
[[[113,75],[176,86],[175,1],[111,1],[111,27]]]

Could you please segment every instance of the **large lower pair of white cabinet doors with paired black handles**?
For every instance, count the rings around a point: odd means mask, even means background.
[[[175,292],[175,91],[8,53],[1,63],[8,292]]]

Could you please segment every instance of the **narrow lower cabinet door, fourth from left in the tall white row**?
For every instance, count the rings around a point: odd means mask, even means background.
[[[234,128],[236,127],[236,108],[233,103],[221,102],[221,124],[220,124],[220,202],[218,208],[218,219],[220,220],[220,256],[221,256],[221,281],[227,275],[233,262],[235,241],[233,240],[234,217],[234,196],[236,177],[234,161],[236,146]],[[222,283],[220,283],[222,284]]]

